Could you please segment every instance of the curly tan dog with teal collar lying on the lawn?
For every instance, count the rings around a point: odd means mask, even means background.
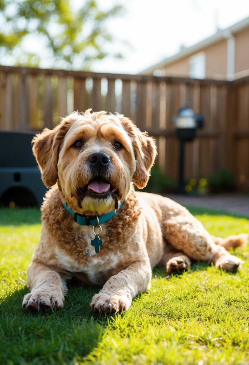
[[[191,260],[236,271],[241,260],[226,248],[246,234],[211,237],[180,204],[143,189],[156,157],[154,139],[128,118],[105,111],[73,112],[33,139],[44,184],[41,241],[27,270],[23,307],[64,305],[66,283],[101,285],[91,307],[127,310],[150,287],[152,268],[186,270]]]

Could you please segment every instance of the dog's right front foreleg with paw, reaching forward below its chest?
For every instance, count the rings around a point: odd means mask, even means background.
[[[97,312],[126,311],[132,299],[149,288],[151,276],[149,259],[133,262],[110,277],[100,292],[93,296],[90,306]]]

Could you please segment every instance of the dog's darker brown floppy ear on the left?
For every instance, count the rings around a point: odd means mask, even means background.
[[[32,151],[42,173],[46,187],[53,186],[58,179],[57,162],[60,145],[70,128],[71,120],[64,119],[53,130],[45,128],[32,139]]]

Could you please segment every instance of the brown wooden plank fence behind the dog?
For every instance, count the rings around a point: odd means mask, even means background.
[[[74,110],[117,111],[157,139],[157,163],[175,181],[172,116],[185,101],[204,116],[198,138],[186,146],[186,177],[225,168],[249,188],[249,77],[230,82],[0,66],[0,130],[53,128]]]

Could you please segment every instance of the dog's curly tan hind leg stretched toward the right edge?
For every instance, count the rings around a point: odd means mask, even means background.
[[[189,257],[213,262],[215,266],[223,270],[236,271],[242,263],[240,258],[230,255],[224,247],[215,245],[202,224],[190,215],[167,220],[164,236],[173,247],[183,251]]]

